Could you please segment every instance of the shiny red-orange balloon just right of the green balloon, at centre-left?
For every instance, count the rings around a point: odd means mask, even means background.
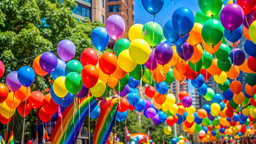
[[[87,88],[93,88],[99,80],[99,71],[94,65],[85,65],[81,71],[81,79]]]

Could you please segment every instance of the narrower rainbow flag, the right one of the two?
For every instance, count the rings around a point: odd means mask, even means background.
[[[117,115],[118,98],[107,101],[100,109],[100,116],[94,130],[93,144],[105,144]]]

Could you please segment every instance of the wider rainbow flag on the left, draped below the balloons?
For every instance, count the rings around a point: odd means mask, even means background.
[[[96,107],[98,101],[96,97],[90,98],[90,112]],[[84,98],[80,104],[80,118],[79,110],[76,111],[73,116],[74,104],[67,107],[62,113],[62,133],[61,133],[61,118],[58,118],[52,135],[50,136],[50,142],[52,143],[73,143],[78,138],[79,130],[84,124],[85,118],[89,114],[89,99]]]

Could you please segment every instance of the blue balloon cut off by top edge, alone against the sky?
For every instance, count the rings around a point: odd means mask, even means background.
[[[143,8],[152,15],[159,13],[165,0],[141,0]]]

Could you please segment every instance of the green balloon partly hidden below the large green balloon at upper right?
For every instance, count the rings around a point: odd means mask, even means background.
[[[230,57],[230,47],[228,46],[228,44],[221,44],[221,47],[219,47],[219,50],[214,53],[216,58],[218,58],[219,60],[226,60]]]

